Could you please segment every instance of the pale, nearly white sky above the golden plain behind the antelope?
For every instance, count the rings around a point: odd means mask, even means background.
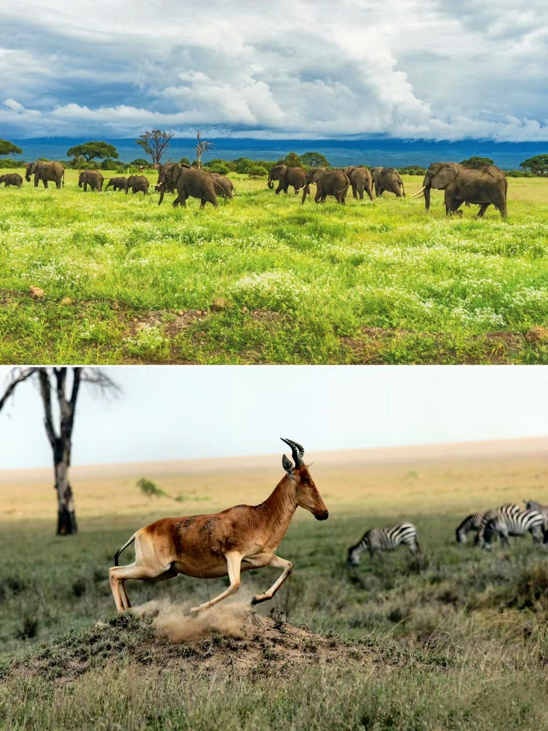
[[[548,436],[545,366],[104,368],[122,393],[83,385],[73,464]],[[12,369],[0,366],[2,392]],[[0,469],[49,466],[37,385],[0,412]]]

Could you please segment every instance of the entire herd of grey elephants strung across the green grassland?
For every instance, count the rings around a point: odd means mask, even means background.
[[[186,206],[186,199],[189,197],[199,198],[200,208],[204,208],[210,202],[218,208],[217,196],[220,195],[232,199],[234,197],[234,186],[229,178],[219,173],[210,173],[195,167],[178,162],[168,162],[156,165],[158,170],[158,181],[156,191],[159,192],[159,204],[164,200],[166,192],[177,193],[173,202],[174,207]],[[26,181],[31,181],[34,175],[34,186],[38,187],[42,181],[47,188],[48,182],[56,183],[58,189],[64,185],[64,167],[60,162],[45,162],[37,160],[29,162],[26,166]],[[88,186],[91,190],[102,191],[105,178],[99,170],[83,170],[78,179],[78,186],[87,192]],[[268,176],[267,185],[270,189],[274,187],[274,181],[278,181],[276,194],[287,193],[289,187],[294,189],[295,194],[302,190],[302,203],[307,195],[311,195],[311,184],[316,186],[314,201],[325,202],[328,196],[335,197],[335,200],[344,205],[346,194],[349,188],[352,189],[354,198],[363,200],[366,193],[370,200],[373,200],[373,190],[377,197],[385,191],[395,194],[397,197],[405,197],[403,181],[397,170],[392,167],[373,167],[368,170],[365,166],[349,166],[340,170],[327,170],[324,167],[312,167],[303,170],[302,167],[288,167],[287,165],[275,165]],[[0,175],[0,183],[8,186],[20,186],[23,178],[18,173],[7,173]],[[129,190],[133,194],[142,192],[148,194],[150,183],[144,175],[130,175],[129,178],[110,178],[105,190],[112,186],[113,190],[121,190],[127,194]],[[426,171],[422,181],[422,189],[414,193],[413,197],[424,196],[426,211],[430,210],[431,189],[444,191],[444,203],[447,215],[456,213],[462,215],[460,206],[479,205],[478,216],[482,218],[490,205],[506,218],[506,192],[508,181],[503,171],[495,165],[485,165],[479,168],[465,167],[456,162],[433,162]]]

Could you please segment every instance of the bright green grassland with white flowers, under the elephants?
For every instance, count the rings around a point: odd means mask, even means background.
[[[232,178],[218,211],[72,170],[2,187],[0,362],[547,363],[546,179],[511,178],[501,221],[447,219],[441,192],[427,215],[409,176],[346,207]]]

